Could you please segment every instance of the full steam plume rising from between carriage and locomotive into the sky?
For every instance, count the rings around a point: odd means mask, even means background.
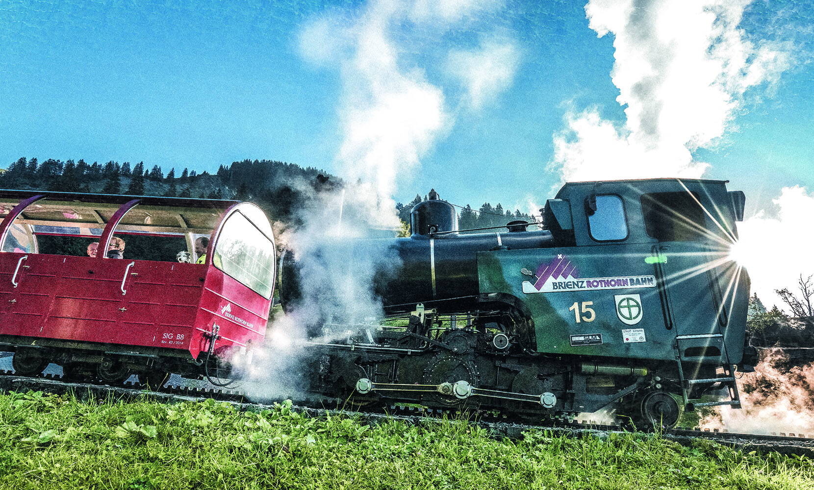
[[[270,326],[266,348],[257,352],[251,369],[258,383],[250,383],[247,392],[265,398],[302,393],[301,374],[313,368],[309,358],[313,349],[304,348],[300,340],[308,335],[326,342],[342,339],[364,331],[365,324],[383,313],[374,282],[396,272],[398,255],[389,241],[380,246],[366,241],[358,247],[352,242],[399,224],[392,201],[398,180],[453,124],[444,90],[427,81],[402,43],[410,41],[411,29],[444,33],[475,22],[476,14],[498,5],[370,0],[352,18],[327,15],[304,26],[300,33],[304,58],[335,68],[342,82],[339,119],[344,138],[337,161],[346,183],[333,190],[323,186],[309,208],[300,210],[304,225],[279,238],[300,266],[301,298]],[[488,83],[465,70],[457,72],[467,86],[475,87],[467,93],[476,94],[479,104],[504,90],[514,76],[514,64],[501,68],[501,56],[510,53],[501,51],[497,42],[483,46],[478,59],[491,56],[492,69],[502,70],[499,80]],[[510,63],[516,63],[516,57]],[[313,190],[305,187],[304,192]],[[324,328],[314,339],[314,331],[307,332],[307,327]]]

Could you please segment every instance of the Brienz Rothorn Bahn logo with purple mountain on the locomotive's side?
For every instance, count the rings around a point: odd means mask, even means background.
[[[558,254],[549,263],[540,264],[536,272],[521,269],[520,273],[534,279],[523,281],[523,292],[549,293],[552,291],[593,291],[598,289],[629,289],[655,287],[655,276],[617,276],[613,278],[580,278],[576,265],[567,256]],[[637,322],[638,323],[638,322]],[[632,325],[632,324],[631,324]]]

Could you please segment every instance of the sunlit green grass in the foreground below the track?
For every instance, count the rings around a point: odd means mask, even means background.
[[[814,488],[805,457],[759,455],[706,440],[493,440],[463,421],[367,427],[305,418],[287,405],[83,403],[0,395],[0,488]]]

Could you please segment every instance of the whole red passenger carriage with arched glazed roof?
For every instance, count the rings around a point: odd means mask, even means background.
[[[18,374],[54,362],[68,378],[155,385],[248,361],[265,336],[276,254],[252,203],[0,190],[0,217],[0,350]],[[114,237],[142,247],[110,258]],[[168,239],[175,250],[157,245]],[[98,242],[98,255],[66,255],[60,240]]]

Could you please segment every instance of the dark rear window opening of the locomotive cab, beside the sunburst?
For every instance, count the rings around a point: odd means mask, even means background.
[[[647,234],[660,242],[689,242],[708,234],[698,196],[689,192],[654,192],[641,196]]]

